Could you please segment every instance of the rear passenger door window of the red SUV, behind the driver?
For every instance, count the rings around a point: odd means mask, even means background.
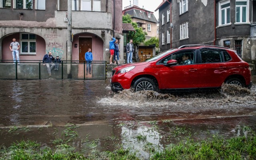
[[[222,51],[200,50],[202,63],[223,62]]]

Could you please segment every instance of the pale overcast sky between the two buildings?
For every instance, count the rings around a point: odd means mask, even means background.
[[[144,6],[145,10],[154,12],[154,16],[158,19],[158,10],[156,12],[155,10],[161,2],[163,2],[163,0],[138,0],[138,7],[142,8]],[[131,4],[133,4],[133,0],[131,0]],[[130,6],[130,0],[123,0],[123,9],[127,6]]]

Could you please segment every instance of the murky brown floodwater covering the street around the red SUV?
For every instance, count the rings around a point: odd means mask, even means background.
[[[254,77],[254,84],[256,83]],[[210,134],[244,135],[256,122],[256,85],[250,90],[224,85],[217,92],[158,94],[124,90],[115,94],[110,80],[0,80],[0,146],[30,139],[52,146],[73,124],[77,150],[113,150],[116,144],[140,150],[178,142],[177,128],[194,139]],[[20,128],[14,131],[14,126]],[[146,136],[138,140],[138,135]],[[136,138],[137,137],[137,138]],[[141,149],[144,148],[144,149]]]

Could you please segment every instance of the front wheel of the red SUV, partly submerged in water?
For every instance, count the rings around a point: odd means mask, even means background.
[[[150,78],[139,78],[135,81],[134,85],[134,92],[138,92],[140,90],[153,90],[158,91],[158,88],[155,82]]]

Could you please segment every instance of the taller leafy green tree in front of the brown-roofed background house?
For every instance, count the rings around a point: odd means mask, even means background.
[[[137,23],[132,22],[132,18],[130,14],[126,14],[123,16],[123,23],[131,23],[133,28],[136,30],[135,34],[134,32],[128,32],[128,40],[127,42],[132,39],[133,40],[133,44],[140,44],[142,42],[144,42],[146,40],[146,32],[143,32],[142,27],[138,28]],[[134,35],[134,36],[133,36]]]

